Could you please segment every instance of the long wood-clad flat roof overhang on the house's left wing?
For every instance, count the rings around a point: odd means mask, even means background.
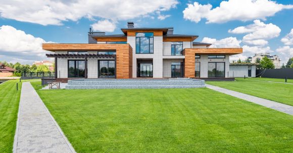
[[[67,50],[116,50],[130,47],[129,44],[111,44],[111,43],[43,43],[42,48],[51,52]]]

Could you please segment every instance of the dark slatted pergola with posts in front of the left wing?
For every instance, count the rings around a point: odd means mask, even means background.
[[[46,54],[47,58],[55,58],[55,78],[57,78],[57,58],[84,58],[84,72],[85,78],[87,78],[87,58],[102,58],[109,59],[114,58],[116,68],[116,55],[104,55],[104,54]],[[116,76],[116,69],[115,69]]]

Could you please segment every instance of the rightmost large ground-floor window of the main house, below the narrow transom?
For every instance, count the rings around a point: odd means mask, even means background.
[[[209,62],[208,77],[225,77],[225,63]]]

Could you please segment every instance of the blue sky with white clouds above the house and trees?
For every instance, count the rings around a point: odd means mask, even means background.
[[[174,27],[199,35],[210,47],[242,47],[245,60],[258,53],[293,57],[293,0],[0,0],[0,61],[48,60],[42,43],[87,43],[87,32],[122,34],[120,28]],[[53,59],[49,59],[53,60]]]

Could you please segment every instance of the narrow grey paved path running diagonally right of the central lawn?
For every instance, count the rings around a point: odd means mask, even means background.
[[[272,101],[272,100],[268,100],[268,99],[264,99],[264,98],[259,98],[253,95],[249,95],[249,94],[245,94],[245,93],[241,93],[241,92],[237,92],[237,91],[233,91],[233,90],[229,90],[229,89],[225,89],[225,88],[221,88],[218,86],[214,86],[214,85],[210,85],[210,84],[206,84],[207,88],[240,98],[240,99],[244,99],[247,101],[251,101],[252,103],[267,107],[267,108],[271,108],[286,114],[290,114],[293,115],[293,107],[289,106],[289,105],[285,105],[285,104],[281,104],[281,103],[277,103],[276,101]]]

